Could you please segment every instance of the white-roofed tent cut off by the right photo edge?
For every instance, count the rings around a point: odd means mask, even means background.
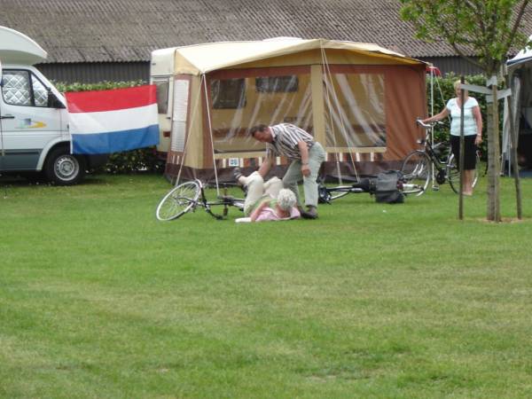
[[[518,163],[521,168],[532,169],[532,49],[520,51],[507,62],[507,67],[512,96],[505,101],[502,160],[503,170],[510,173],[512,126],[518,139]],[[512,121],[509,101],[512,105]]]

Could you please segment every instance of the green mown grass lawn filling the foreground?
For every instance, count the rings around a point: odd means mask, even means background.
[[[161,223],[161,176],[0,187],[2,398],[529,398],[532,180]],[[502,213],[515,215],[512,180]]]

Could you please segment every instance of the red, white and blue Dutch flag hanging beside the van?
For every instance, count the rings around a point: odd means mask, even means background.
[[[117,153],[159,144],[155,85],[66,93],[72,153]]]

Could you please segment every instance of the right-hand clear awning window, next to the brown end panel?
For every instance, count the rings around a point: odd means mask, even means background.
[[[384,74],[326,75],[325,110],[328,147],[386,146]]]

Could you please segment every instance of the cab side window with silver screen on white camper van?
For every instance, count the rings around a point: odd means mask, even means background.
[[[48,90],[29,71],[4,70],[2,96],[12,106],[48,106]]]

